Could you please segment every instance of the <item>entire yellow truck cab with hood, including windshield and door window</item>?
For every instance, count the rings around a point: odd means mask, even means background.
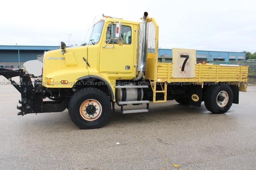
[[[120,25],[120,37],[117,38],[116,24]],[[100,20],[89,29],[82,46],[44,54],[43,84],[47,88],[72,88],[85,76],[100,77],[109,84],[115,83],[116,79],[135,78],[139,28],[139,22],[116,18]],[[123,41],[121,46],[118,38]],[[69,83],[59,83],[62,80]],[[115,91],[114,85],[111,89]]]

